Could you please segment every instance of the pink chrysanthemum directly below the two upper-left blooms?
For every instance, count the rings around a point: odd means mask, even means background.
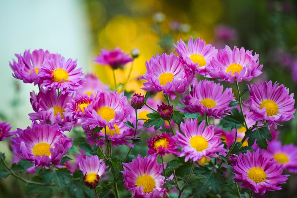
[[[72,119],[70,112],[67,110],[67,103],[72,102],[69,93],[60,94],[57,97],[57,91],[51,89],[44,91],[43,89],[36,95],[35,92],[30,93],[30,102],[36,113],[29,113],[32,121],[43,121],[58,124],[63,131],[70,131],[77,120]]]

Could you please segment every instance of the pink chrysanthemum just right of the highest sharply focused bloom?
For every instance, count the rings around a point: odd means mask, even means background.
[[[231,50],[226,45],[211,60],[206,68],[209,71],[209,75],[206,77],[220,78],[219,81],[225,80],[228,83],[233,83],[235,79],[237,82],[250,81],[262,73],[263,65],[259,65],[258,57],[259,54],[252,56],[252,51],[245,51],[243,47],[238,49],[234,46],[234,49]]]

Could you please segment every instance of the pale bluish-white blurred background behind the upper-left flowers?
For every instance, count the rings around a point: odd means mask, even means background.
[[[0,121],[12,129],[31,126],[30,92],[33,84],[12,77],[9,61],[27,49],[49,50],[67,60],[78,59],[83,73],[91,72],[91,39],[86,6],[82,0],[0,1]],[[16,91],[18,88],[19,91]],[[5,119],[5,120],[4,120]]]

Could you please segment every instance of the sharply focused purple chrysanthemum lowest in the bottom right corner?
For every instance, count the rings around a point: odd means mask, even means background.
[[[264,194],[266,191],[280,190],[281,183],[286,183],[289,175],[282,174],[282,166],[273,158],[268,158],[259,150],[239,153],[234,165],[233,178],[236,182],[243,182],[241,188],[248,187],[256,193]]]

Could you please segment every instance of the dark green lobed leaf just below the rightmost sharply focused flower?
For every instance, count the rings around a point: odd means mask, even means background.
[[[271,141],[271,138],[272,138],[271,132],[266,127],[256,128],[256,130],[248,132],[246,135],[249,138],[247,140],[247,143],[249,145],[253,145],[256,140],[257,145],[260,148],[266,149],[266,150],[268,146],[266,140]]]

